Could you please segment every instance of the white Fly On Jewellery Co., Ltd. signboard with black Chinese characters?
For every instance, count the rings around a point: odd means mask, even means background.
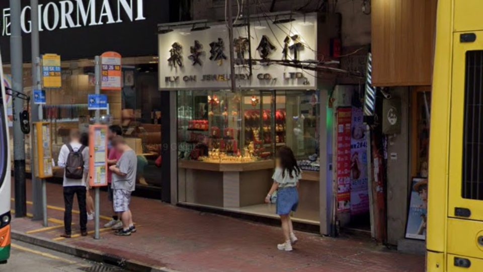
[[[278,19],[277,24],[274,24],[275,17],[254,19],[250,42],[246,26],[234,28],[237,88],[316,89],[316,72],[302,69],[301,65],[301,61],[309,63],[318,59],[316,15]],[[204,26],[200,25],[202,30],[198,31],[192,31],[190,25],[158,35],[160,90],[230,88],[228,29],[224,23]],[[159,30],[163,33],[163,26]]]

